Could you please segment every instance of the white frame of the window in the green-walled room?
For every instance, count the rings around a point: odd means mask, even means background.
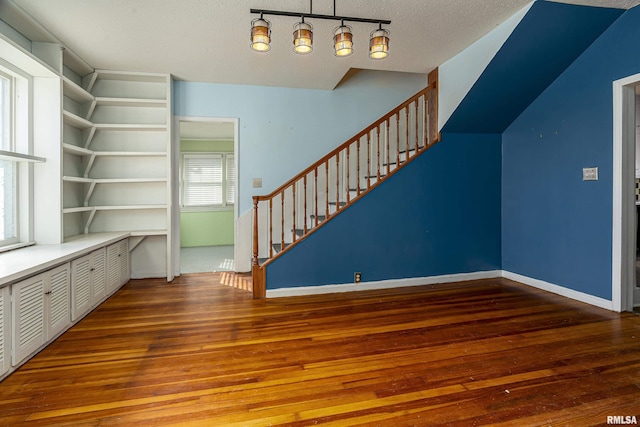
[[[185,167],[185,159],[186,158],[206,158],[206,157],[218,157],[221,158],[221,192],[222,192],[222,203],[221,204],[209,204],[209,205],[186,205],[185,204],[185,194],[186,194],[186,186],[188,184],[186,179],[186,167]],[[235,182],[235,173],[232,174],[232,185],[234,188],[234,192],[232,197],[228,197],[228,189],[229,189],[229,162],[233,164],[233,168],[235,169],[235,153],[234,152],[224,152],[224,151],[205,151],[205,152],[194,152],[194,151],[185,151],[180,153],[180,211],[181,212],[203,212],[203,211],[230,211],[234,210],[235,206],[235,191],[237,188],[237,183]]]

